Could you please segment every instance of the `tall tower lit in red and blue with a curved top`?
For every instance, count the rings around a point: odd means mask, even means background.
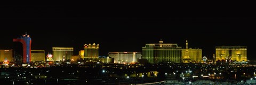
[[[31,61],[31,38],[29,37],[29,35],[27,35],[27,32],[25,33],[25,35],[19,38],[13,39],[13,41],[17,41],[22,44],[22,47],[23,47],[22,62],[29,64]]]

